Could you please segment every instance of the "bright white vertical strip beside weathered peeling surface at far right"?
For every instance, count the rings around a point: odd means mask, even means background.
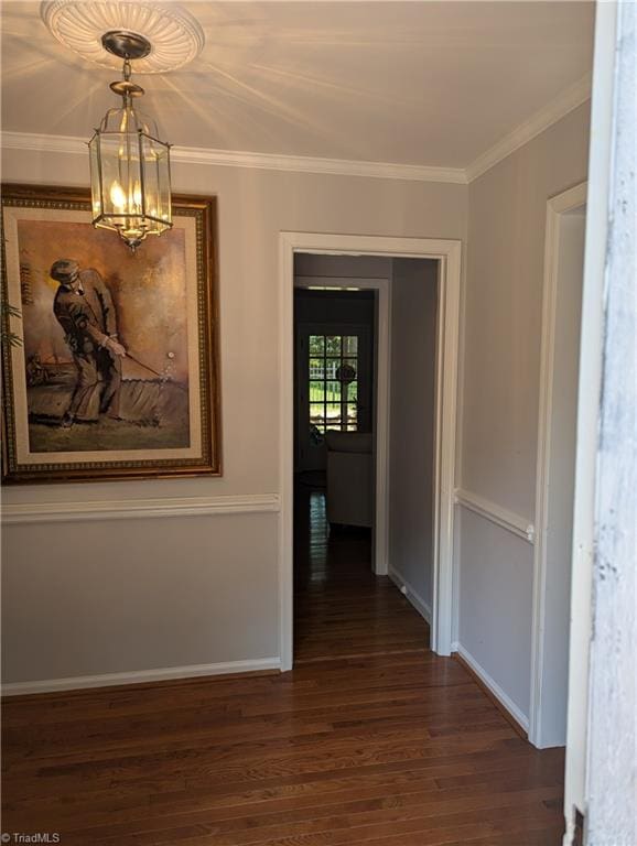
[[[592,638],[593,558],[595,551],[595,482],[602,364],[604,349],[604,289],[618,3],[598,2],[595,13],[589,196],[584,248],[584,286],[580,339],[580,390],[575,503],[573,510],[573,563],[569,655],[569,708],[564,771],[564,846],[573,840],[576,806],[587,812],[589,675]]]

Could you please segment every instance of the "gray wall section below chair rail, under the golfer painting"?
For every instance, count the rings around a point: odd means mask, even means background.
[[[276,513],[12,525],[6,680],[276,657]]]

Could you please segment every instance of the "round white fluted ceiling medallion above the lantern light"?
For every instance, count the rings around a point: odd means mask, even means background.
[[[126,31],[152,44],[136,61],[138,74],[162,74],[192,62],[205,36],[197,20],[176,3],[145,0],[45,0],[41,17],[65,47],[102,67],[118,67],[116,56],[102,46],[108,32]]]

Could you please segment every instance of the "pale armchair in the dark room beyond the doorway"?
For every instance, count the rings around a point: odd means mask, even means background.
[[[326,432],[327,520],[371,527],[374,513],[373,435]]]

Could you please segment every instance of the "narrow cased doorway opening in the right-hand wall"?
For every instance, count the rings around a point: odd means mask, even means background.
[[[549,200],[542,308],[529,739],[565,746],[586,185]]]

